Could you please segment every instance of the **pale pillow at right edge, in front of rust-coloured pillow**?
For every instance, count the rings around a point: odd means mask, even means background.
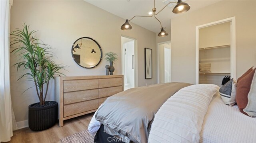
[[[254,73],[251,89],[248,93],[248,104],[243,111],[250,117],[256,118],[256,72]]]

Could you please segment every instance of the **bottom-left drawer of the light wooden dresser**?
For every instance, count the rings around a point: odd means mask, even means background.
[[[94,109],[97,109],[98,107],[99,107],[98,99],[64,105],[64,117],[94,110]]]

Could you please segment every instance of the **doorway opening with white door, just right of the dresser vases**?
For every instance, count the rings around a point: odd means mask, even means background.
[[[124,90],[135,87],[135,40],[121,37],[122,74],[124,75]]]

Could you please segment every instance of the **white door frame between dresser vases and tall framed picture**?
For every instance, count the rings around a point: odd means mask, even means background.
[[[122,37],[134,40],[134,87],[138,87],[138,40],[126,35],[121,35],[121,73],[124,75],[123,65],[124,65],[124,55],[123,55],[123,45]]]

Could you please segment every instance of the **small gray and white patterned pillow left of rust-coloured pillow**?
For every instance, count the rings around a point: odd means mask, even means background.
[[[236,86],[237,82],[232,78],[219,90],[222,101],[229,106],[236,104]]]

